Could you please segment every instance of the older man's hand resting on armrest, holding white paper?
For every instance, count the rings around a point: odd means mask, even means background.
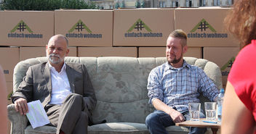
[[[15,100],[16,112],[20,112],[20,115],[25,115],[28,112],[27,100],[19,98]]]

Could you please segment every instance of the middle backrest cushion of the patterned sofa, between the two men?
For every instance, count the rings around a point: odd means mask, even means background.
[[[82,58],[81,62],[87,66]],[[145,117],[153,111],[146,88],[148,73],[153,67],[155,61],[150,58],[97,58],[97,72],[90,77],[97,97],[93,120],[145,123]]]

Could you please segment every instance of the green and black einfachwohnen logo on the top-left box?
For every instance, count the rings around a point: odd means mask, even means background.
[[[12,28],[10,33],[7,34],[8,38],[43,38],[43,35],[40,33],[33,33],[31,28],[23,20],[20,20],[19,23]]]

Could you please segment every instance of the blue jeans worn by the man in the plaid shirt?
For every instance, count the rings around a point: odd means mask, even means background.
[[[185,117],[185,120],[190,119],[188,111],[183,112],[182,114]],[[203,112],[200,112],[200,117],[205,117]],[[145,125],[148,127],[148,130],[151,134],[168,134],[167,130],[165,130],[165,127],[175,125],[175,122],[172,121],[172,118],[169,116],[169,114],[156,110],[145,118]],[[207,130],[207,128],[201,127],[189,127],[189,129],[190,134],[204,134]]]

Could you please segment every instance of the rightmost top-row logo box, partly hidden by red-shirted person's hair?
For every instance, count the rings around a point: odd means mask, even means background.
[[[175,29],[188,34],[188,46],[239,46],[225,30],[223,20],[230,8],[175,9]]]

